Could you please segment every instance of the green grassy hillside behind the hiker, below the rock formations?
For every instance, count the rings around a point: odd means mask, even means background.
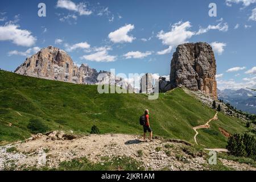
[[[150,110],[154,134],[193,142],[193,126],[203,125],[215,111],[175,89],[148,100],[144,94],[98,94],[95,85],[76,85],[0,71],[0,143],[30,136],[30,118],[41,118],[51,129],[63,128],[89,133],[97,125],[101,133],[141,134],[138,118]],[[20,116],[18,111],[22,116]],[[230,133],[246,128],[236,118],[219,114],[209,131],[199,130],[198,142],[207,147],[224,147],[218,126]],[[10,127],[9,122],[13,125]]]

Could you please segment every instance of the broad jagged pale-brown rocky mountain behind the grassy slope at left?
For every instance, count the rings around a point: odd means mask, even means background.
[[[65,51],[52,46],[27,58],[15,73],[76,84],[96,84],[99,74],[88,65],[77,67]]]

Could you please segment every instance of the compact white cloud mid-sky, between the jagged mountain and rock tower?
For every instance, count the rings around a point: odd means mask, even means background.
[[[133,29],[134,29],[133,24],[127,24],[126,26],[123,26],[118,30],[115,30],[114,32],[110,32],[109,39],[113,43],[125,43],[125,42],[131,43],[133,42],[133,40],[135,40],[135,38],[132,35],[127,35],[127,34]]]

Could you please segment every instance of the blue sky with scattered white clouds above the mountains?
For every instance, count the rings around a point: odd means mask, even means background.
[[[46,4],[46,17],[38,4]],[[209,3],[217,16],[210,17]],[[49,45],[77,64],[116,73],[170,74],[177,44],[207,42],[218,88],[256,86],[256,0],[23,0],[0,2],[0,68],[14,71]]]

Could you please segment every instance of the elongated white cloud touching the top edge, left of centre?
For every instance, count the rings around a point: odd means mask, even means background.
[[[67,9],[70,11],[75,11],[79,13],[79,15],[90,15],[92,11],[86,9],[85,3],[74,3],[70,0],[58,0],[57,7]]]

